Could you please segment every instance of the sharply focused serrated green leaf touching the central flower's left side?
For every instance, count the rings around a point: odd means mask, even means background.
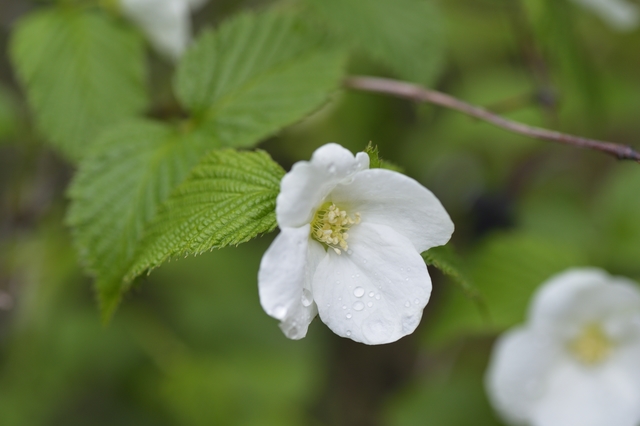
[[[171,256],[237,245],[274,230],[283,175],[263,151],[211,152],[163,205],[127,279]]]

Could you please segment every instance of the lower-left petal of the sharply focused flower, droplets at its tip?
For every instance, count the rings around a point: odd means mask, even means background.
[[[306,336],[317,314],[311,279],[326,253],[309,239],[309,229],[309,225],[282,229],[262,257],[258,272],[262,308],[281,321],[280,327],[290,339]]]

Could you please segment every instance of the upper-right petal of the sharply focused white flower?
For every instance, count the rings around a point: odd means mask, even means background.
[[[435,195],[391,170],[362,171],[352,183],[336,186],[330,198],[349,212],[359,212],[362,222],[395,229],[420,253],[446,244],[453,233],[453,222]]]

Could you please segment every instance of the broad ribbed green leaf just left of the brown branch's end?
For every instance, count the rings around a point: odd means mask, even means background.
[[[344,53],[292,17],[241,14],[204,32],[181,61],[182,104],[223,145],[251,146],[327,102]]]

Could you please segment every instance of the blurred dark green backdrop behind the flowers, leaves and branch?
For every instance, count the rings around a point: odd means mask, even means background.
[[[260,147],[288,169],[330,141],[354,152],[377,144],[451,214],[451,244],[482,305],[432,270],[422,324],[399,342],[356,344],[317,319],[289,341],[258,300],[272,234],[171,261],[139,280],[105,327],[63,225],[73,166],[33,129],[6,54],[16,20],[42,3],[0,3],[2,425],[499,425],[484,369],[496,333],[524,319],[535,288],[571,266],[640,280],[637,164],[341,92]],[[435,3],[445,53],[433,88],[640,147],[640,31],[616,32],[565,0]],[[267,4],[210,0],[196,30]],[[162,111],[172,69],[152,51],[149,61]],[[394,76],[365,55],[349,67]]]

